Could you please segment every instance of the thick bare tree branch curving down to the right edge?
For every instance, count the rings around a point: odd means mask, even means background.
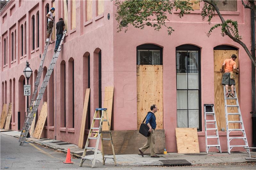
[[[222,24],[225,24],[226,22],[225,22],[224,18],[222,17],[222,15],[220,14],[220,10],[219,10],[219,8],[216,6],[216,4],[214,4],[214,3],[212,3],[212,1],[208,1],[208,0],[203,0],[203,1],[204,1],[205,3],[208,3],[208,4],[210,4],[210,5],[213,6],[213,8],[215,9],[215,11],[217,12],[217,14],[218,14],[219,17],[220,17],[221,23],[222,23]],[[231,38],[233,41],[237,42],[238,44],[240,44],[240,45],[244,48],[245,52],[248,54],[249,58],[251,59],[253,65],[256,67],[255,59],[252,58],[252,54],[251,54],[250,51],[248,50],[247,46],[246,46],[241,40],[236,39],[234,36],[232,36],[232,34],[230,33],[228,27],[226,27],[226,28],[227,28],[227,31],[225,31],[225,34],[226,34],[229,38]]]

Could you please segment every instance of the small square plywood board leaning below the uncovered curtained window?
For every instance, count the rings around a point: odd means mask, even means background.
[[[178,153],[199,153],[196,128],[175,128]]]

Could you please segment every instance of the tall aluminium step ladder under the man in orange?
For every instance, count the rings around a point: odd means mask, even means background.
[[[226,125],[227,125],[228,153],[230,154],[230,150],[233,147],[244,147],[246,149],[246,151],[249,153],[250,157],[251,157],[250,149],[249,149],[249,146],[248,146],[248,142],[247,142],[247,138],[246,138],[246,134],[245,134],[245,130],[244,130],[244,123],[243,123],[243,119],[242,119],[242,115],[241,115],[238,99],[237,99],[237,96],[236,96],[236,89],[234,87],[235,97],[229,97],[229,96],[226,97],[226,88],[225,88],[225,86],[223,86],[223,89],[224,89],[224,102],[225,102],[225,117],[226,117]],[[227,105],[227,100],[236,100],[236,104],[235,105]],[[238,110],[238,113],[228,113],[228,108],[230,108],[230,107],[236,107],[237,110]],[[237,121],[229,121],[228,120],[228,115],[238,115],[239,116],[239,120],[237,120]],[[239,128],[238,129],[229,129],[228,125],[230,123],[239,123]],[[240,126],[240,124],[241,124],[241,126]],[[229,137],[229,133],[231,131],[241,131],[243,133],[243,137]],[[230,141],[232,139],[233,140],[237,140],[238,139],[238,142],[239,142],[239,140],[243,139],[245,144],[244,145],[230,145]]]

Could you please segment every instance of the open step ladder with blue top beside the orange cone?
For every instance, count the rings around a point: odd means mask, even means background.
[[[102,113],[100,113],[100,111],[102,111]],[[98,117],[98,115],[99,115],[99,117]],[[99,127],[94,127],[95,120],[99,120]],[[107,123],[108,123],[108,131],[102,131],[102,124],[103,124],[104,121],[107,121]],[[98,130],[98,131],[95,131],[95,130]],[[92,133],[96,133],[96,135],[91,137]],[[109,133],[110,138],[102,138],[102,133]],[[83,163],[86,159],[91,160],[92,161],[92,168],[94,167],[100,138],[101,138],[101,151],[102,151],[103,165],[105,165],[105,160],[107,158],[110,158],[110,159],[114,160],[115,166],[116,166],[116,155],[115,155],[115,151],[114,151],[114,145],[113,145],[113,141],[112,141],[112,135],[111,135],[111,131],[110,131],[110,126],[109,126],[109,122],[108,122],[107,109],[106,108],[96,108],[96,110],[95,110],[93,120],[92,120],[92,125],[91,125],[90,131],[89,131],[89,134],[88,134],[88,138],[86,140],[86,144],[85,144],[85,147],[84,147],[84,153],[83,153],[80,165],[79,165],[80,167],[83,165]],[[96,146],[95,147],[88,147],[90,140],[96,140]],[[110,140],[111,147],[112,147],[112,152],[113,152],[113,157],[106,157],[104,155],[104,149],[103,149],[103,141],[104,140]],[[87,149],[94,149],[93,158],[85,157]]]

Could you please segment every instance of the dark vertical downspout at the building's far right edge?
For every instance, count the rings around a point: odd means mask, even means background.
[[[251,10],[251,53],[255,60],[255,17]],[[252,63],[252,147],[256,147],[256,105],[255,105],[255,66]]]

